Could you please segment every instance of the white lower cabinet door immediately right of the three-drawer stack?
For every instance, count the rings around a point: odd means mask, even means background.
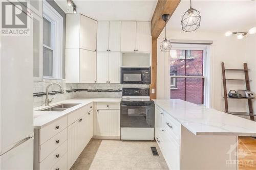
[[[79,122],[78,120],[68,127],[68,169],[79,156]]]

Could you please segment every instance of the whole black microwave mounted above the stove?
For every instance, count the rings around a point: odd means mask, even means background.
[[[151,67],[121,67],[121,84],[151,84]]]

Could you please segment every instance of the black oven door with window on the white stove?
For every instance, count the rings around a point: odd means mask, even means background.
[[[154,128],[155,105],[141,103],[121,104],[121,127]]]

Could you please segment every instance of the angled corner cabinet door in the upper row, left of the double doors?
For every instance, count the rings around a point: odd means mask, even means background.
[[[96,51],[97,21],[86,16],[80,17],[80,48]]]

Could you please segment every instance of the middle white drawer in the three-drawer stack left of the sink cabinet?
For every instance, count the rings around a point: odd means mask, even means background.
[[[57,135],[53,136],[51,139],[47,140],[44,144],[40,146],[40,160],[44,160],[48,155],[50,155],[56,148],[58,148],[63,142],[67,140],[67,128],[59,132]]]

